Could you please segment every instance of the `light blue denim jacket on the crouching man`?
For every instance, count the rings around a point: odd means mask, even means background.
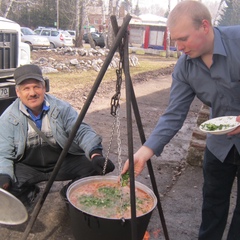
[[[47,115],[53,137],[64,148],[78,113],[69,103],[49,94],[45,95],[45,100],[50,105]],[[19,103],[20,100],[16,99],[0,117],[0,174],[8,174],[13,180],[13,166],[23,157],[28,132],[27,117],[19,110]],[[102,138],[82,122],[68,152],[85,154],[89,158],[92,150],[102,149],[101,141]]]

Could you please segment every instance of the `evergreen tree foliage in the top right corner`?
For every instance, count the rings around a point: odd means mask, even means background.
[[[240,0],[226,0],[226,7],[220,14],[219,26],[240,25]]]

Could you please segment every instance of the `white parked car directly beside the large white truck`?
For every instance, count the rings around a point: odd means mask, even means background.
[[[49,48],[48,38],[37,35],[32,29],[21,27],[21,41],[29,44],[30,49]]]

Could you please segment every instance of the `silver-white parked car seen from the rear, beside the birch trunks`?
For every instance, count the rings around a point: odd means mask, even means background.
[[[34,32],[38,35],[47,37],[50,48],[73,47],[73,39],[68,31],[57,30],[55,28],[39,28]]]

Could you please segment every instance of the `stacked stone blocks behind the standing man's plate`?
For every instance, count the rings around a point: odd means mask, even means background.
[[[199,130],[198,126],[209,119],[209,107],[202,105],[198,117],[197,127],[193,130],[187,154],[187,163],[192,166],[202,166],[204,150],[206,147],[206,133]]]

